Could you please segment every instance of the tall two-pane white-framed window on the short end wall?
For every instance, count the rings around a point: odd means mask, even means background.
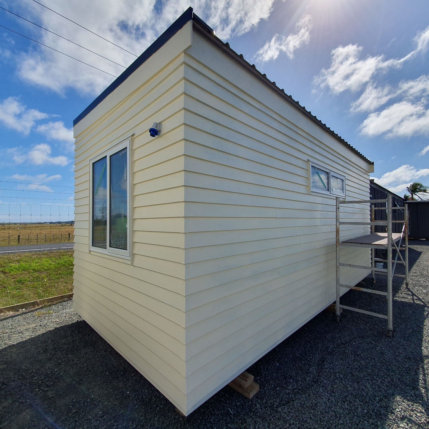
[[[130,257],[130,139],[90,161],[90,249]]]

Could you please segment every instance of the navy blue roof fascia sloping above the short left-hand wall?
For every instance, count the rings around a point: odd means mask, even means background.
[[[130,66],[127,67],[74,121],[73,127],[82,121],[91,110],[95,109],[109,94],[115,91],[132,73],[134,73],[149,57],[160,49],[188,21],[192,21],[193,9],[188,8],[180,15]]]

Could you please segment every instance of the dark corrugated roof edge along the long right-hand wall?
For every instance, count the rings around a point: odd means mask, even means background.
[[[215,35],[215,32],[207,24],[205,24],[205,22],[202,21],[201,18],[198,18],[195,14],[193,14],[193,27],[196,28],[196,30],[199,30],[199,32],[202,33],[204,36],[206,36],[208,39],[210,39],[211,42],[213,42],[224,52],[230,55],[230,57],[232,57],[234,60],[241,63],[242,66],[248,69],[248,71],[253,73],[254,76],[260,79],[264,84],[268,85],[272,90],[277,92],[277,94],[283,97],[288,103],[290,103],[293,107],[295,107],[295,109],[298,109],[305,116],[307,116],[307,118],[311,119],[311,121],[313,121],[319,127],[323,128],[323,130],[328,132],[331,136],[335,137],[335,139],[337,139],[339,142],[344,144],[347,148],[351,149],[367,163],[374,165],[373,161],[369,160],[365,155],[361,154],[356,148],[350,145],[350,143],[345,141],[341,136],[338,136],[338,134],[332,131],[326,124],[323,124],[323,122],[320,121],[320,119],[317,119],[315,115],[312,115],[311,112],[305,109],[305,106],[301,106],[297,101],[293,100],[292,96],[286,94],[283,88],[279,88],[275,84],[275,82],[270,81],[267,78],[266,74],[265,73],[262,74],[254,64],[251,64],[248,61],[246,61],[243,57],[243,54],[237,54],[237,52],[230,47],[230,44],[228,42],[226,43],[222,42],[222,40]]]

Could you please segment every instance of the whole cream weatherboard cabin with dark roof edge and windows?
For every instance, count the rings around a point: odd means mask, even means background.
[[[192,9],[74,134],[74,308],[184,414],[335,300],[335,196],[369,199],[373,165]]]

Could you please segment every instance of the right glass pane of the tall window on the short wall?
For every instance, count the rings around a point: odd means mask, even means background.
[[[127,148],[110,156],[110,247],[127,250]]]

